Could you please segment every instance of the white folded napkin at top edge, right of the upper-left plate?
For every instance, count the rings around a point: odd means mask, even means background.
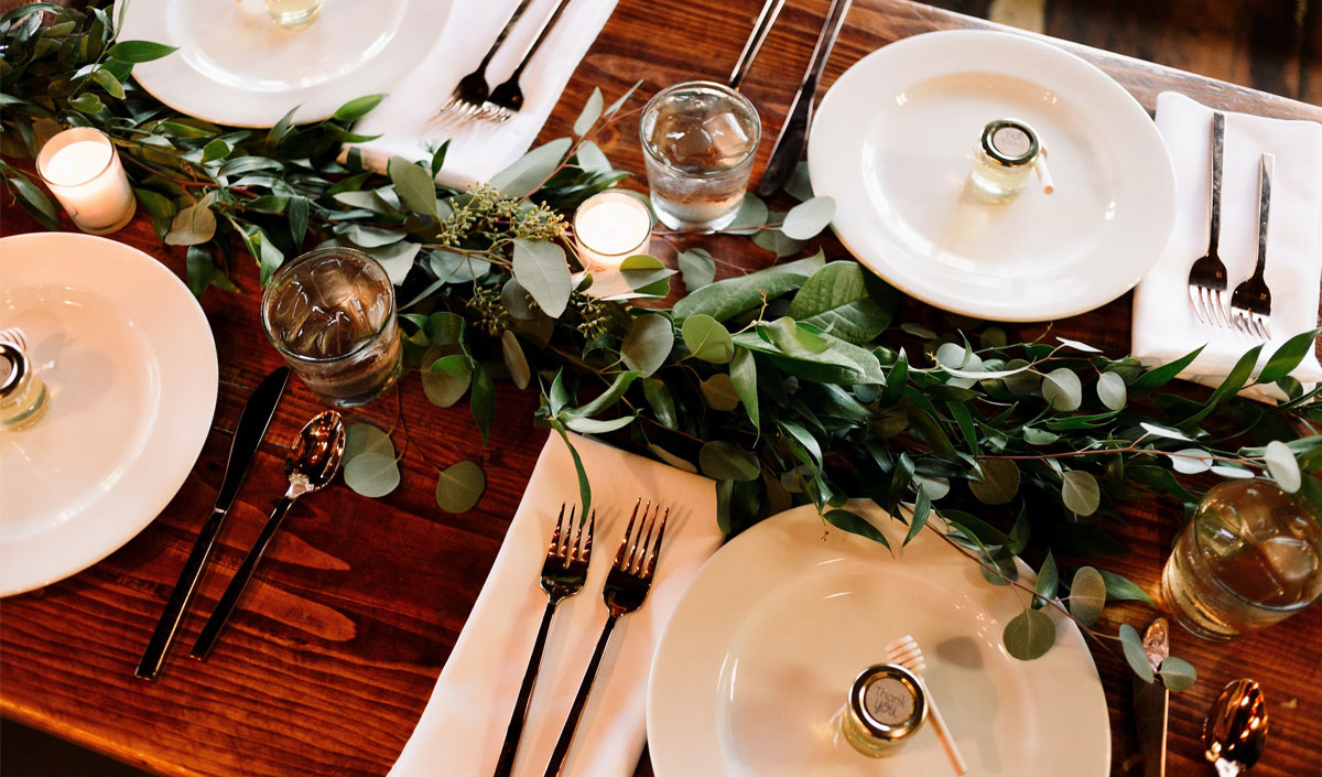
[[[438,181],[465,189],[473,182],[490,180],[527,151],[559,102],[574,69],[615,11],[616,0],[566,0],[567,7],[550,37],[520,81],[524,110],[509,122],[467,122],[444,128],[430,124],[430,119],[449,98],[459,79],[477,69],[518,4],[517,0],[451,1],[449,21],[431,53],[390,90],[390,96],[368,114],[354,132],[381,135],[358,147],[364,163],[378,170],[385,170],[391,156],[412,161],[430,159],[430,149],[448,137],[449,151]],[[486,69],[486,81],[492,87],[504,82],[518,66],[554,4],[555,0],[537,0],[529,5]]]

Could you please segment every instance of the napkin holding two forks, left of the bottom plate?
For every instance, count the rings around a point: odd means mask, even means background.
[[[646,679],[661,629],[720,546],[715,484],[571,436],[592,484],[596,533],[587,584],[555,612],[514,777],[541,777],[605,625],[602,585],[639,497],[670,509],[652,591],[615,626],[563,777],[628,777],[646,741]],[[561,503],[578,503],[568,449],[551,435],[468,622],[391,777],[489,777],[496,768],[546,595],[542,560]]]

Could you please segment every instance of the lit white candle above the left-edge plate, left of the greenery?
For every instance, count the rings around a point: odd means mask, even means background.
[[[48,140],[37,173],[85,233],[112,233],[137,209],[119,153],[99,130],[74,127]]]

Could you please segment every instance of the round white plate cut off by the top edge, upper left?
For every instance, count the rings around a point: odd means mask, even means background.
[[[178,46],[134,67],[176,111],[235,127],[325,119],[389,92],[440,38],[451,0],[327,0],[312,26],[287,32],[263,0],[132,0],[122,40]]]

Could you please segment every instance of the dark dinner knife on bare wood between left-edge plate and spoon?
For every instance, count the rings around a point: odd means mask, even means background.
[[[234,441],[230,444],[230,459],[225,464],[221,490],[215,494],[215,505],[212,507],[206,523],[202,525],[202,531],[198,534],[197,542],[193,543],[193,550],[188,554],[184,571],[180,572],[178,581],[175,583],[169,601],[165,603],[165,612],[161,613],[161,620],[156,624],[156,630],[152,633],[151,641],[147,642],[147,650],[143,651],[143,659],[137,662],[137,669],[134,673],[143,679],[156,679],[156,674],[165,661],[165,653],[175,640],[175,632],[178,629],[180,621],[184,620],[184,610],[188,609],[188,603],[197,589],[197,581],[202,576],[202,567],[206,566],[206,559],[215,546],[215,535],[219,534],[221,523],[225,522],[225,515],[229,513],[230,505],[234,503],[239,486],[243,485],[243,476],[247,474],[249,464],[253,462],[253,456],[256,453],[258,445],[262,444],[262,437],[266,436],[266,428],[271,424],[275,406],[280,403],[284,385],[288,381],[290,367],[275,370],[262,381],[253,396],[249,398],[247,406],[243,407],[239,426],[234,429]]]

